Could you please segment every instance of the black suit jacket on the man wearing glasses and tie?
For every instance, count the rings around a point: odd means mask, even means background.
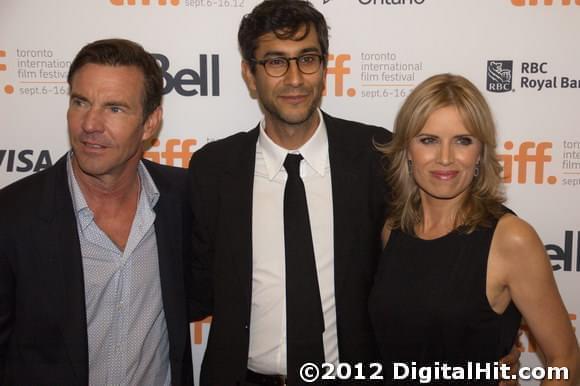
[[[334,270],[339,355],[372,362],[378,353],[367,311],[381,251],[384,173],[373,139],[386,130],[324,114],[334,207]],[[194,272],[209,277],[213,321],[201,385],[245,379],[252,294],[252,191],[259,128],[209,143],[189,166],[194,213]],[[201,283],[200,279],[194,282]],[[198,295],[207,291],[196,291]]]

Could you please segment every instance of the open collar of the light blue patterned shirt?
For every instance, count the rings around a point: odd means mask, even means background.
[[[77,218],[79,219],[81,229],[84,230],[93,221],[94,214],[93,211],[89,208],[87,200],[85,199],[85,196],[83,195],[81,187],[79,186],[77,178],[73,172],[72,157],[73,152],[71,150],[68,153],[66,163],[68,186],[71,192],[74,211],[77,214]],[[153,178],[149,174],[149,171],[143,164],[143,161],[139,161],[137,172],[139,173],[139,178],[141,181],[140,194],[144,195],[145,202],[149,204],[150,209],[153,209],[159,200],[159,190],[157,189]],[[141,200],[139,200],[139,202],[141,202]]]

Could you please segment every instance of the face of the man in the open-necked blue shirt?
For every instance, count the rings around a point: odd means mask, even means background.
[[[157,108],[143,122],[143,81],[134,66],[86,64],[74,75],[67,120],[77,175],[118,179],[136,171],[142,142],[161,119]]]

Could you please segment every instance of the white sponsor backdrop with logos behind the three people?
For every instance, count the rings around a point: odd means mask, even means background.
[[[147,158],[187,166],[207,142],[254,127],[261,113],[241,77],[236,36],[258,2],[2,0],[0,187],[68,150],[68,66],[97,39],[135,40],[162,66],[164,123]],[[440,72],[462,74],[483,91],[499,131],[508,204],[538,230],[579,327],[580,0],[313,3],[331,26],[329,113],[390,129],[413,87]],[[209,321],[192,324],[196,372],[208,330]],[[522,365],[536,366],[533,337],[526,332],[522,342]]]

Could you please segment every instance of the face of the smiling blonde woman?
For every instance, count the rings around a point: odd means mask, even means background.
[[[475,178],[481,152],[481,142],[465,128],[455,106],[431,113],[408,147],[422,201],[461,202]]]

